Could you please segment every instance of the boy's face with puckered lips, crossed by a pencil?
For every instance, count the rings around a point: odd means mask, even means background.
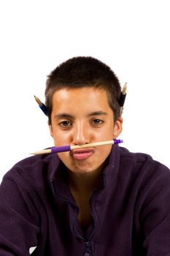
[[[93,87],[55,91],[51,120],[50,134],[55,146],[112,140],[122,131],[122,118],[114,122],[106,91]],[[84,148],[59,153],[58,157],[72,172],[90,173],[102,167],[111,148]]]

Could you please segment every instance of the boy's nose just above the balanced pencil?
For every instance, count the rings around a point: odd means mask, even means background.
[[[73,144],[84,145],[90,143],[88,127],[83,123],[75,124],[73,130]]]

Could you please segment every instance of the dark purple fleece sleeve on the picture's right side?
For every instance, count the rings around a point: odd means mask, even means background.
[[[149,171],[149,170],[148,170]],[[147,256],[170,256],[170,170],[158,165],[145,181],[139,214]]]

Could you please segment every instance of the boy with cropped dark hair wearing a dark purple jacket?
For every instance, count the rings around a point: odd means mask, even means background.
[[[116,139],[120,83],[92,57],[59,65],[45,91],[55,146]],[[98,146],[29,157],[0,188],[0,255],[170,255],[170,172],[147,154]]]

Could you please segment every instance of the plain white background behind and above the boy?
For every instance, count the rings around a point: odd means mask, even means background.
[[[34,94],[73,56],[106,62],[128,83],[123,146],[170,167],[169,0],[5,0],[0,3],[0,181],[53,140]]]

